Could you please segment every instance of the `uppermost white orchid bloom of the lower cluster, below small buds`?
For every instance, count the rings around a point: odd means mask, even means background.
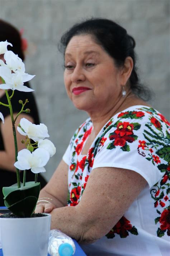
[[[18,132],[24,136],[28,136],[28,138],[34,140],[34,142],[49,137],[47,126],[43,123],[35,125],[26,118],[21,118],[20,126],[21,128],[17,127]]]

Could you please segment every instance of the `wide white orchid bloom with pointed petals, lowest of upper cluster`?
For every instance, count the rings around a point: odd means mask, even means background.
[[[27,86],[24,86],[24,82],[31,80],[34,76],[28,74],[11,73],[11,70],[7,67],[0,67],[0,77],[5,81],[5,84],[0,84],[0,89],[11,89],[18,91],[34,91]]]

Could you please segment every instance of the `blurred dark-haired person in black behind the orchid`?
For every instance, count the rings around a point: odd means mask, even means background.
[[[15,54],[18,54],[18,57],[24,60],[24,50],[27,48],[27,41],[22,39],[20,32],[10,23],[0,19],[0,41],[8,41],[13,47],[8,45],[8,50],[12,50]],[[0,59],[4,60],[4,54],[0,55]],[[3,82],[0,78],[0,84]],[[28,82],[25,82],[26,86],[30,87]],[[32,92],[23,92],[17,91],[14,92],[14,96],[11,98],[11,103],[13,106],[14,118],[16,114],[21,110],[22,105],[19,104],[19,100],[22,100],[23,103],[25,99],[28,99],[28,103],[25,105],[26,108],[30,109],[30,113],[22,113],[16,120],[16,124],[20,122],[20,119],[25,117],[30,122],[39,124],[39,114],[37,109],[36,100],[34,98],[34,93]],[[5,90],[0,89],[0,102],[8,104],[6,99]],[[16,171],[14,167],[15,162],[15,150],[14,150],[14,138],[13,131],[11,126],[11,117],[9,108],[0,105],[0,112],[4,116],[4,124],[0,120],[0,206],[4,206],[4,199],[2,188],[9,187],[17,182],[16,180]],[[25,148],[25,145],[21,143],[22,139],[25,137],[18,133],[16,130],[17,142],[18,142],[18,151]],[[35,175],[31,171],[27,171],[27,181],[33,181]],[[23,171],[20,173],[21,181],[23,180]],[[41,174],[38,175],[38,181],[41,182],[41,188],[46,185],[46,180]]]

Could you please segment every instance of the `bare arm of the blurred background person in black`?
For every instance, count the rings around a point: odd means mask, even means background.
[[[16,113],[14,113],[14,118],[16,117]],[[27,118],[30,122],[33,122],[33,118],[27,114],[20,114],[19,117],[16,120],[16,126],[20,122],[21,118]],[[16,127],[15,126],[15,127]],[[0,169],[5,169],[9,171],[15,172],[15,147],[14,147],[14,136],[13,136],[13,130],[12,130],[12,123],[11,123],[11,117],[6,116],[4,123],[1,122],[1,134],[4,142],[4,151],[0,151]],[[21,143],[22,139],[25,139],[23,135],[18,133],[16,129],[16,138],[17,138],[17,144],[18,144],[18,151],[25,148],[25,144]]]

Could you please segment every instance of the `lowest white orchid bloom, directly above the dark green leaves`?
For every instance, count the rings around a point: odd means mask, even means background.
[[[32,153],[28,149],[22,149],[18,152],[18,161],[14,163],[14,166],[19,170],[31,169],[33,173],[45,172],[44,166],[49,158],[49,153],[45,149],[37,148]]]

